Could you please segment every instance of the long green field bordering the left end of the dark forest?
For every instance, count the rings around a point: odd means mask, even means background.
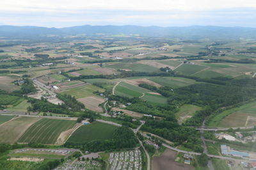
[[[184,87],[197,83],[195,80],[180,77],[150,77],[149,80],[159,83],[160,85],[173,88]]]

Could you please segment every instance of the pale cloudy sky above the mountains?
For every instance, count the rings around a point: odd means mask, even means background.
[[[0,25],[256,27],[256,0],[0,0]]]

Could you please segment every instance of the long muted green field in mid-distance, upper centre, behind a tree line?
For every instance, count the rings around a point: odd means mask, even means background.
[[[136,64],[136,63],[119,63],[119,64],[111,64],[106,67],[112,68],[112,69],[129,69],[132,71],[140,71],[140,72],[154,72],[159,71],[157,67],[148,66],[145,64]]]

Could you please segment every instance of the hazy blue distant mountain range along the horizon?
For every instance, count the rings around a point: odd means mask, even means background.
[[[256,28],[251,27],[218,27],[218,26],[189,26],[189,27],[142,27],[136,25],[82,25],[65,28],[48,28],[33,26],[0,25],[0,37],[31,38],[46,35],[76,35],[76,34],[139,34],[140,36],[169,37],[182,39],[227,39],[227,38],[256,38]]]

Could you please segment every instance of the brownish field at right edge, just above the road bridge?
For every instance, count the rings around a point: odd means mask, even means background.
[[[242,113],[242,112],[236,112],[228,115],[220,122],[220,127],[244,127],[244,126],[250,126],[255,125],[256,122],[256,115],[254,114],[248,114],[248,113]],[[247,118],[248,122],[246,124]]]

